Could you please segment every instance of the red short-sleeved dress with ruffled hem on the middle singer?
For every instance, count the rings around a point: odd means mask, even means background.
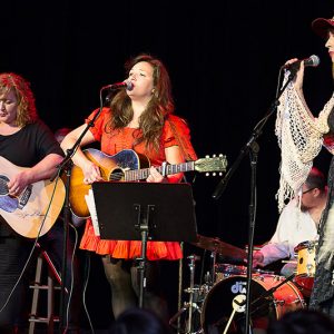
[[[89,121],[96,111],[94,111]],[[90,128],[97,141],[101,143],[101,151],[107,155],[115,155],[122,149],[134,149],[134,136],[137,135],[138,129],[124,128],[121,130],[106,134],[105,126],[110,119],[109,108],[104,108],[101,115],[95,121],[95,126]],[[190,145],[189,128],[183,119],[176,116],[169,116],[170,121],[166,121],[161,136],[161,149],[159,153],[154,150],[146,151],[145,144],[139,144],[134,150],[138,154],[145,154],[153,166],[160,166],[165,160],[165,148],[171,146],[179,146],[178,140],[184,141],[183,147],[187,149],[187,156],[196,159],[196,155]],[[174,135],[177,130],[178,138]],[[96,252],[101,255],[110,255],[114,258],[132,259],[140,256],[141,242],[139,240],[106,240],[100,239],[94,233],[94,227],[90,219],[87,219],[85,233],[80,242],[80,248]],[[179,259],[183,257],[181,248],[177,242],[147,242],[147,259]]]

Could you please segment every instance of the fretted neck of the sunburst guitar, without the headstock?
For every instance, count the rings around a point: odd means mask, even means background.
[[[195,169],[195,161],[187,161],[178,165],[166,165],[156,167],[156,169],[163,175],[171,175],[177,173],[191,171]],[[165,171],[164,171],[165,169]],[[134,181],[139,179],[146,179],[149,176],[149,168],[136,169],[136,170],[126,170],[125,180]]]

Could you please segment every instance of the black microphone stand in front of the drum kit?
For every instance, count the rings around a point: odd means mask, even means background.
[[[281,68],[282,70],[283,68]],[[279,70],[279,71],[281,71]],[[296,72],[298,68],[292,68],[289,69],[289,76],[283,86],[283,88],[276,94],[275,100],[273,101],[272,106],[269,107],[267,114],[265,117],[255,126],[253,129],[252,136],[246,143],[246,145],[242,148],[237,159],[232,165],[225,177],[219,181],[219,184],[216,186],[216,189],[213,194],[214,199],[218,199],[223,191],[225,190],[227,183],[232,175],[235,173],[237,167],[239,166],[243,158],[246,156],[246,154],[249,153],[250,156],[250,168],[252,168],[252,175],[250,175],[250,203],[249,203],[249,224],[248,224],[248,254],[247,254],[247,285],[246,285],[246,315],[245,315],[245,331],[246,334],[250,333],[249,327],[249,306],[250,306],[250,282],[252,282],[252,268],[253,268],[253,248],[254,248],[254,230],[255,230],[255,217],[256,217],[256,165],[257,165],[257,154],[259,151],[258,144],[256,143],[256,139],[262,135],[262,130],[269,119],[269,117],[275,112],[277,107],[279,106],[279,97],[288,86],[288,84],[295,78]]]

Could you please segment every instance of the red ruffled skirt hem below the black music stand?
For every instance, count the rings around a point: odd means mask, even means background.
[[[132,259],[141,255],[141,242],[139,240],[107,240],[95,235],[90,219],[87,219],[85,233],[80,242],[80,248],[96,252],[100,255],[110,255],[114,258]],[[146,257],[154,259],[179,259],[183,252],[176,242],[147,242]]]

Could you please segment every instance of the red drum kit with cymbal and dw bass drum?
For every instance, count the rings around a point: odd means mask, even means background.
[[[218,238],[198,236],[193,245],[216,254],[244,261],[247,252]],[[295,274],[289,277],[253,269],[250,279],[249,324],[252,333],[266,333],[271,320],[281,318],[286,312],[306,307],[315,274],[316,242],[304,242],[295,247]],[[214,254],[214,256],[213,256]],[[178,333],[239,334],[245,333],[247,267],[212,263],[212,278],[195,285],[196,255],[187,257],[190,285],[185,289],[188,302],[174,315],[169,324]],[[176,325],[177,321],[177,325]]]

